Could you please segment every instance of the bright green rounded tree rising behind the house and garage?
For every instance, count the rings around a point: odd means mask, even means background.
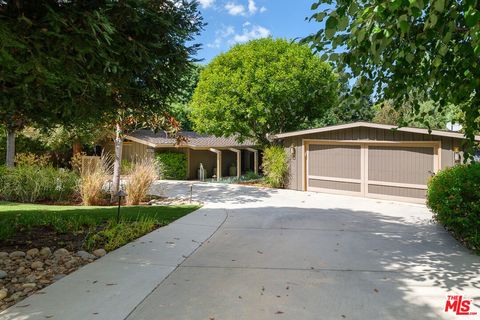
[[[200,74],[192,120],[200,132],[268,144],[268,134],[314,123],[337,101],[332,68],[298,43],[236,45]]]

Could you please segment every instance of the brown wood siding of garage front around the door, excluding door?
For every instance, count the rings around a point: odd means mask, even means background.
[[[454,151],[455,147],[459,147],[461,149],[462,140],[457,138],[448,138],[448,137],[440,137],[440,136],[433,136],[433,135],[425,135],[425,134],[418,134],[418,133],[409,133],[409,132],[401,132],[401,131],[392,131],[392,130],[385,130],[385,129],[377,129],[377,128],[366,128],[366,127],[358,127],[358,128],[350,128],[350,129],[342,129],[342,130],[335,130],[329,132],[321,132],[321,133],[312,133],[306,134],[301,136],[295,137],[287,137],[283,139],[283,145],[287,154],[289,155],[289,181],[287,187],[289,189],[294,190],[303,190],[303,177],[305,175],[303,166],[303,140],[304,139],[319,139],[319,140],[332,140],[332,141],[356,141],[356,142],[366,142],[369,141],[373,142],[408,142],[408,141],[438,141],[440,142],[440,168],[444,169],[446,167],[450,167],[454,165]],[[293,146],[295,150],[295,156],[292,155],[290,147]],[[460,152],[462,159],[463,154]],[[395,159],[392,158],[392,161]],[[422,161],[421,159],[419,161]],[[345,182],[347,183],[347,182]],[[352,186],[354,188],[354,186]],[[395,192],[395,188],[387,187],[387,186],[375,186],[373,190],[376,189],[384,189],[386,192]],[[387,190],[389,189],[389,191]],[[424,194],[424,192],[422,193]],[[419,195],[416,194],[418,197]]]

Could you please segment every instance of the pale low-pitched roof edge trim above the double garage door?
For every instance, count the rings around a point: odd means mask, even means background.
[[[398,126],[393,126],[389,124],[379,124],[379,123],[371,123],[371,122],[363,122],[363,121],[347,123],[347,124],[339,124],[339,125],[327,126],[327,127],[321,127],[321,128],[279,133],[279,134],[273,135],[272,138],[282,139],[282,138],[302,136],[302,135],[312,134],[312,133],[328,132],[328,131],[359,128],[359,127],[395,130],[395,131],[401,131],[401,132],[411,132],[411,133],[428,134],[428,135],[434,135],[434,136],[440,136],[440,137],[465,139],[465,135],[460,132],[453,132],[453,131],[447,131],[447,130],[431,130],[429,132],[428,129],[398,127]],[[480,141],[480,136],[475,136],[475,141]]]

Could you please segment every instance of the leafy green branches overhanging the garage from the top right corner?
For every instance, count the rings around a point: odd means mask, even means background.
[[[321,0],[313,20],[324,23],[310,42],[340,71],[357,78],[375,100],[399,108],[412,90],[440,107],[459,105],[472,151],[480,125],[480,8],[476,1]],[[419,111],[420,117],[434,108]]]

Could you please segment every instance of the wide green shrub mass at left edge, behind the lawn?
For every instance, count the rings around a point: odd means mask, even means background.
[[[51,166],[19,165],[0,170],[0,198],[6,201],[72,201],[78,176]]]

